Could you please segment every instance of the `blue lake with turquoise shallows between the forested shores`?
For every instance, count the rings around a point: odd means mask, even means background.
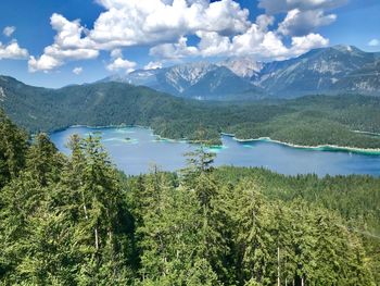
[[[71,135],[91,133],[102,136],[113,162],[131,175],[147,173],[153,165],[164,171],[179,170],[186,165],[183,154],[197,147],[186,141],[160,139],[152,130],[141,127],[71,127],[51,134],[51,139],[61,151],[68,153],[65,145]],[[287,175],[380,175],[380,156],[297,149],[270,141],[238,142],[229,136],[221,139],[221,147],[210,148],[216,153],[216,165],[263,166]]]

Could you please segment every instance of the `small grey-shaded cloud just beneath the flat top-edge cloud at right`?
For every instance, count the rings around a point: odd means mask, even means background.
[[[322,10],[301,11],[293,9],[288,12],[278,30],[283,35],[301,36],[320,26],[330,25],[337,20],[335,14],[326,15]]]

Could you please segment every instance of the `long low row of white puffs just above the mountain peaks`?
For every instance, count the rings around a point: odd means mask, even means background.
[[[199,32],[197,36],[201,40],[197,47],[187,47],[186,41],[182,41],[181,45],[172,45],[167,50],[164,49],[165,52],[162,52],[162,46],[151,50],[160,50],[160,53],[154,52],[152,54],[165,59],[180,59],[189,55],[253,55],[259,60],[283,60],[300,55],[311,49],[329,45],[329,40],[321,35],[311,33],[305,36],[291,37],[291,46],[287,47],[278,33],[263,30],[262,27],[261,25],[252,24],[246,33],[236,35],[232,38],[220,36],[215,32]]]

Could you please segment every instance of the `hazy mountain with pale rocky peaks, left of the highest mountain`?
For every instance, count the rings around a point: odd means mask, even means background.
[[[264,97],[265,92],[250,79],[237,75],[225,64],[197,62],[157,70],[138,70],[124,76],[111,76],[101,82],[142,85],[175,96],[202,100]]]

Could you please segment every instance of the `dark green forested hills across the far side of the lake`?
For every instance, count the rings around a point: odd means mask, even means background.
[[[270,137],[296,145],[380,148],[380,98],[341,95],[227,104],[175,98],[145,87],[103,83],[45,89],[0,77],[7,114],[29,132],[75,124],[144,125],[163,137],[220,142]]]

